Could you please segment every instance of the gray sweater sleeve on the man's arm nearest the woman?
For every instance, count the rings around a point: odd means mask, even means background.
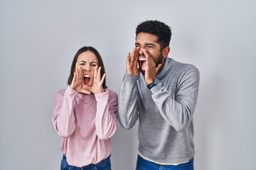
[[[131,129],[139,118],[137,79],[139,76],[125,74],[121,86],[118,120],[122,128],[126,130]]]

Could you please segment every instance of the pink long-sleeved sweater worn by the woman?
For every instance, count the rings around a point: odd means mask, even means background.
[[[110,156],[110,137],[117,130],[117,94],[82,95],[70,89],[55,94],[53,125],[63,137],[60,149],[72,166],[97,164]]]

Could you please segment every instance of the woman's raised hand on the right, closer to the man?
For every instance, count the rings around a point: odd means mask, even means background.
[[[103,74],[103,76],[101,77],[100,75],[101,68],[102,67],[98,67],[98,66],[94,67],[92,86],[83,85],[82,89],[84,89],[85,91],[90,91],[92,94],[100,94],[104,92],[102,84],[105,80],[106,74]]]

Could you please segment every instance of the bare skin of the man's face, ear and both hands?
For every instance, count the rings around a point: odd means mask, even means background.
[[[164,67],[164,59],[168,57],[170,47],[161,50],[158,37],[149,33],[139,33],[136,38],[135,47],[132,54],[127,54],[127,74],[139,75],[142,71],[146,84],[151,84],[156,74]],[[139,58],[146,59],[146,68],[143,70],[137,67]]]

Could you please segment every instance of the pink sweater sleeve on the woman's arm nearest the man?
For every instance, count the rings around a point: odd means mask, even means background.
[[[117,130],[117,94],[106,90],[101,94],[95,94],[95,98],[97,101],[96,134],[100,140],[107,140]]]

